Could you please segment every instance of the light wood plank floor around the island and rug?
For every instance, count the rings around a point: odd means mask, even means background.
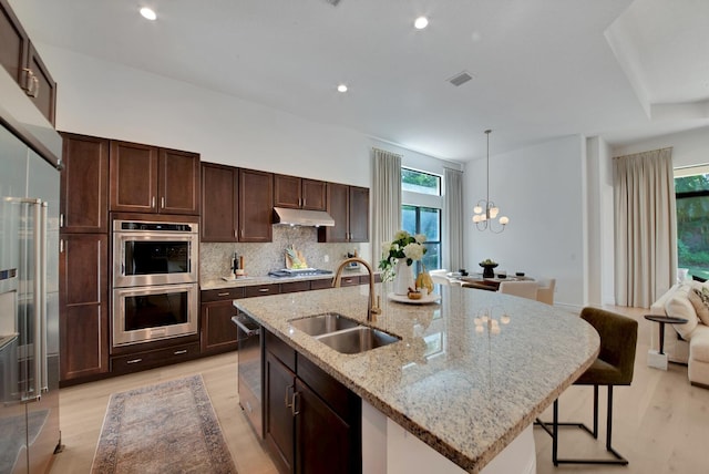
[[[537,473],[703,474],[709,472],[706,454],[709,437],[709,390],[691,387],[687,368],[670,364],[667,372],[647,367],[650,331],[657,324],[643,318],[646,309],[609,308],[634,317],[639,323],[633,385],[614,392],[613,445],[630,464],[620,466],[554,467],[551,437],[536,427]],[[96,447],[109,396],[133,388],[202,373],[232,456],[240,474],[276,473],[270,458],[253,434],[238,408],[237,354],[228,353],[178,365],[61,389],[60,421],[64,452],[58,454],[52,474],[88,473]],[[605,455],[605,389],[600,389],[600,434],[595,441],[574,429],[564,429],[559,456]],[[569,388],[559,399],[563,420],[590,425],[593,389]],[[543,416],[551,420],[551,409]]]

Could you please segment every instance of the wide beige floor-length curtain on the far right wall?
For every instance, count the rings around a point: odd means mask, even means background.
[[[615,157],[616,305],[649,306],[676,279],[671,148]]]

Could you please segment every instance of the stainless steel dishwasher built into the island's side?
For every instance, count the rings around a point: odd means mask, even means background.
[[[232,317],[237,327],[238,393],[239,405],[256,431],[264,437],[264,405],[261,403],[264,368],[261,367],[264,342],[261,327],[248,316],[239,312]]]

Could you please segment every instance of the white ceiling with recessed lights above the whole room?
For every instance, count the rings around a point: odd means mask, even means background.
[[[485,128],[494,154],[709,125],[707,0],[10,3],[40,53],[70,49],[440,158],[484,156]],[[448,82],[462,71],[474,79]]]

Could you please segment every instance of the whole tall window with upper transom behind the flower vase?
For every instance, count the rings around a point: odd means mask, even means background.
[[[425,236],[427,253],[422,260],[425,269],[441,268],[441,176],[402,167],[401,190],[402,228]],[[421,270],[421,262],[414,262],[414,274]]]

